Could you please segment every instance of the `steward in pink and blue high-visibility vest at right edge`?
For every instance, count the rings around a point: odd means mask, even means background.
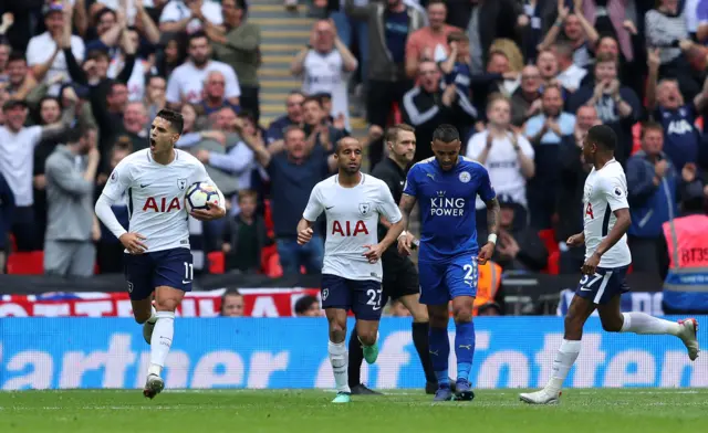
[[[708,313],[708,215],[702,209],[700,212],[663,225],[668,253],[664,279],[666,314]]]

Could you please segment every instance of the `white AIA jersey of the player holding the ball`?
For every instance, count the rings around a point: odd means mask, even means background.
[[[147,252],[189,249],[189,214],[185,192],[195,182],[214,184],[204,165],[191,155],[175,149],[167,166],[155,162],[149,149],[125,157],[111,173],[103,194],[119,200],[127,190],[128,232],[147,237]]]

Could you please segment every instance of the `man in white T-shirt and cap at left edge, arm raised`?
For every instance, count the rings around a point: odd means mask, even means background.
[[[41,140],[56,136],[74,120],[77,97],[70,95],[70,105],[64,109],[61,122],[45,126],[24,127],[28,108],[23,101],[8,101],[3,108],[6,124],[0,126],[0,172],[3,173],[17,208],[11,231],[18,251],[39,250],[34,226],[34,194],[32,173],[34,172],[34,148]]]

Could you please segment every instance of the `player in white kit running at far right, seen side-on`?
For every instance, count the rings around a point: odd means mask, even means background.
[[[583,158],[593,169],[585,180],[583,193],[583,233],[570,236],[570,246],[585,243],[583,277],[565,315],[565,335],[555,355],[551,379],[545,388],[519,398],[530,404],[555,404],[561,386],[580,353],[583,325],[597,309],[602,327],[610,332],[671,335],[684,341],[688,357],[698,357],[698,321],[678,323],[644,313],[622,313],[621,295],[628,291],[625,275],[632,255],[627,246],[627,229],[632,224],[627,203],[627,180],[614,158],[617,137],[605,125],[593,126],[583,141]]]

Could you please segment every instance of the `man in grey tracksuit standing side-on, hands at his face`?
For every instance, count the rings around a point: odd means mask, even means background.
[[[56,146],[46,159],[46,275],[93,274],[96,258],[93,189],[101,155],[96,137],[96,129],[72,129],[67,144]]]

